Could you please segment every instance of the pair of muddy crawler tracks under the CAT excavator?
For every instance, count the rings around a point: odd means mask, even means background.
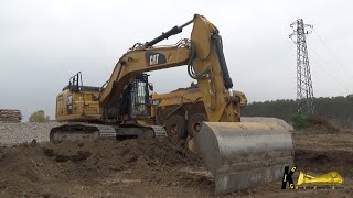
[[[115,140],[122,141],[137,138],[162,138],[167,131],[160,125],[107,125],[93,123],[65,123],[52,128],[50,132],[51,142],[82,141],[82,140]]]

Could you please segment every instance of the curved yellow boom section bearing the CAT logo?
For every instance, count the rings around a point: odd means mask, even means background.
[[[188,64],[190,50],[181,42],[175,46],[138,47],[126,53],[116,64],[99,102],[105,109],[116,106],[121,92],[129,81],[146,72],[165,69]]]

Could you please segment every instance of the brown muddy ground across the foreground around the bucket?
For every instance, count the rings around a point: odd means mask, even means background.
[[[221,197],[353,197],[353,131],[292,136],[299,169],[336,170],[343,189],[281,190],[277,182]],[[3,145],[0,167],[0,197],[214,197],[202,160],[169,139]]]

